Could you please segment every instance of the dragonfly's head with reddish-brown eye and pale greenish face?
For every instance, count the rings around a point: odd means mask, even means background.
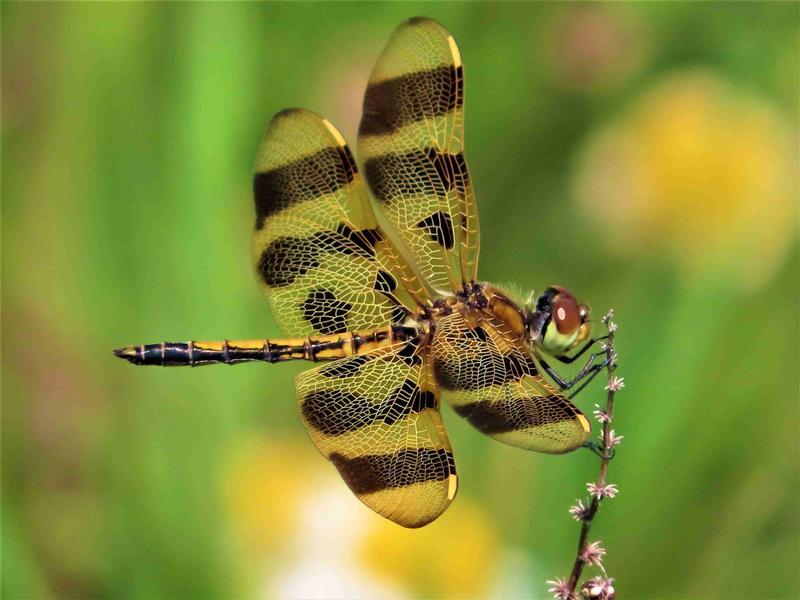
[[[531,340],[548,354],[564,354],[587,339],[592,331],[589,307],[579,304],[562,287],[547,288],[528,316]]]

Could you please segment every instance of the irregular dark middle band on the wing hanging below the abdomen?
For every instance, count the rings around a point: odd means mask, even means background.
[[[373,423],[394,425],[413,413],[436,408],[433,392],[422,391],[406,379],[382,402],[344,390],[317,390],[303,400],[306,420],[326,435],[342,435]]]

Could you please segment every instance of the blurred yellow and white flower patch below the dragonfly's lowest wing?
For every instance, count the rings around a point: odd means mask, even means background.
[[[404,529],[363,506],[305,440],[245,440],[225,470],[265,597],[485,597],[507,562],[488,514],[463,494],[432,524]]]

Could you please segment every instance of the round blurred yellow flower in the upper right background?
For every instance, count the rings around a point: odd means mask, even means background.
[[[625,254],[752,287],[796,239],[796,140],[768,100],[682,72],[590,140],[576,195]]]

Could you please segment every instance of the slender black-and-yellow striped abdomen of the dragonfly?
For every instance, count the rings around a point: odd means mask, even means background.
[[[221,342],[161,342],[125,346],[114,354],[135,365],[162,367],[200,366],[241,362],[318,362],[364,354],[376,348],[408,340],[419,334],[414,327],[388,326],[362,332],[337,333],[319,337],[262,340],[223,340]]]

